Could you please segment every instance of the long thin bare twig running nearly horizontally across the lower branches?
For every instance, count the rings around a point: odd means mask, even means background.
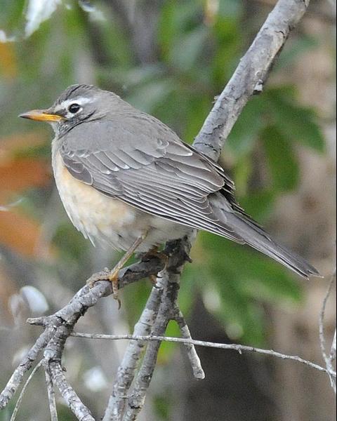
[[[103,335],[103,334],[91,334],[91,333],[80,333],[73,332],[72,336],[77,338],[86,338],[86,339],[105,339],[105,340],[139,340],[139,341],[161,341],[161,342],[179,342],[184,345],[195,345],[197,347],[209,347],[209,348],[218,348],[218,349],[233,349],[234,351],[239,352],[255,352],[256,354],[264,354],[269,356],[275,356],[280,359],[297,361],[298,363],[305,364],[310,368],[315,370],[322,371],[324,373],[330,373],[333,377],[336,377],[336,372],[327,370],[326,368],[319,366],[312,361],[305,360],[300,358],[297,355],[286,355],[281,352],[273,351],[272,349],[263,349],[256,347],[249,347],[248,345],[237,345],[237,344],[220,344],[218,342],[208,342],[204,340],[190,340],[185,338],[175,338],[171,336],[133,336],[133,335]]]

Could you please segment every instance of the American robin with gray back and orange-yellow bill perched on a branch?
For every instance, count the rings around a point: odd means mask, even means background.
[[[246,243],[308,278],[319,273],[276,243],[234,199],[218,166],[161,121],[112,92],[73,85],[52,107],[21,114],[51,123],[55,182],[65,210],[93,244],[147,252],[191,229]]]

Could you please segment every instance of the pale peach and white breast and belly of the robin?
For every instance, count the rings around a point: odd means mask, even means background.
[[[147,237],[138,247],[138,251],[143,252],[190,231],[184,225],[145,213],[76,180],[65,168],[59,152],[53,156],[53,170],[70,220],[93,244],[109,243],[114,248],[127,250],[147,232]]]

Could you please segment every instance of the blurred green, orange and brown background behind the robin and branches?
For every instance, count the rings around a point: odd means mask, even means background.
[[[50,164],[51,129],[18,119],[50,106],[71,83],[94,83],[154,114],[192,142],[275,0],[0,0],[0,387],[39,335],[28,316],[49,314],[113,250],[85,241],[65,215]],[[220,159],[248,213],[326,276],[302,281],[263,255],[211,234],[193,246],[180,305],[195,339],[272,347],[322,363],[317,320],[335,254],[333,1],[312,1],[262,95],[246,105]],[[14,206],[8,206],[14,204]],[[5,207],[5,208],[2,208]],[[150,282],[105,298],[77,330],[128,333]],[[326,314],[328,344],[334,309]],[[170,324],[168,335],[179,332]],[[71,338],[67,377],[103,413],[125,342]],[[199,349],[206,380],[184,349],[164,344],[141,420],[330,421],[327,377],[298,363]],[[11,408],[0,413],[8,420]],[[73,420],[58,401],[60,420]],[[43,373],[18,420],[44,421]]]

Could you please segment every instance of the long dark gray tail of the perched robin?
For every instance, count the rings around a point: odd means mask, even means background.
[[[218,214],[218,209],[214,209],[215,213]],[[234,241],[239,243],[246,243],[249,246],[256,248],[260,252],[269,256],[270,258],[277,260],[282,265],[289,267],[289,269],[296,272],[300,276],[308,279],[309,276],[321,276],[317,269],[306,262],[303,258],[296,255],[296,253],[287,250],[284,246],[276,243],[267,232],[261,228],[257,222],[251,220],[244,213],[238,211],[226,211],[221,209],[225,221],[225,229],[223,232],[217,234],[228,237],[228,229],[234,234],[236,238]],[[222,219],[222,218],[221,218]]]

